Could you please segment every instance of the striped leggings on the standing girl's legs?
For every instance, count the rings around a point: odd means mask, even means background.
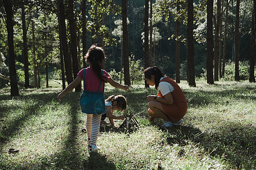
[[[101,114],[86,114],[87,139],[90,145],[96,145],[98,133],[100,132]]]

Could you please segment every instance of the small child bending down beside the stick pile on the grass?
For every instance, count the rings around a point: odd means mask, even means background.
[[[125,111],[126,109],[126,99],[122,95],[117,96],[109,96],[108,99],[105,100],[106,105],[106,113],[102,114],[101,116],[101,124],[106,124],[104,121],[106,117],[109,118],[110,124],[114,126],[114,119],[116,120],[124,120],[125,116],[114,116],[113,111],[121,110]]]

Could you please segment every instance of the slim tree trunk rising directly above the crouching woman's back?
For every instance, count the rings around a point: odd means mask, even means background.
[[[180,3],[177,2],[177,15],[180,13]],[[180,18],[176,20],[176,83],[180,83]]]

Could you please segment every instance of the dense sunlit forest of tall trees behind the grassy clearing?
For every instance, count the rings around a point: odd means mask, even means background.
[[[143,69],[154,65],[164,74],[176,78],[178,83],[192,73],[192,83],[188,79],[191,86],[196,86],[195,77],[202,75],[208,83],[214,83],[213,78],[208,79],[207,74],[213,76],[213,73],[208,73],[207,67],[212,71],[213,67],[218,68],[214,69],[214,80],[222,77],[236,79],[236,74],[239,75],[236,80],[249,79],[251,70],[250,81],[255,81],[253,2],[2,0],[1,78],[11,82],[12,77],[17,78],[26,88],[40,87],[41,80],[46,80],[48,87],[49,78],[62,79],[65,88],[65,81],[71,83],[81,67],[86,67],[83,59],[86,50],[98,43],[106,52],[105,70],[114,79],[120,82],[124,79],[129,85],[142,80]],[[212,3],[212,12],[208,11],[208,3]],[[212,14],[211,27],[207,20],[209,14]],[[7,29],[11,27],[9,15],[11,18],[13,15],[15,67],[10,66],[14,58],[10,57],[7,38]],[[210,55],[207,52],[209,27],[214,42]],[[208,60],[210,66],[207,66]],[[242,61],[240,70],[238,61]],[[229,70],[225,74],[227,62]],[[9,72],[16,75],[7,78]],[[3,79],[0,79],[1,87],[8,84]],[[76,91],[80,90],[81,87],[76,88]]]

